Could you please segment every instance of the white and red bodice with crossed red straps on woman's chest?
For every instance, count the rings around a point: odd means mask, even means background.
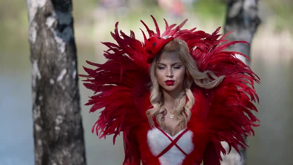
[[[158,160],[160,165],[186,165],[187,159],[200,162],[207,134],[189,127],[171,136],[160,128],[141,127],[137,132],[142,160]]]

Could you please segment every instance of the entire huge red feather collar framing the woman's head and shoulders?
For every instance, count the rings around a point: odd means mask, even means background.
[[[152,16],[151,16],[152,17]],[[196,61],[201,72],[213,71],[217,76],[225,76],[222,83],[213,89],[195,87],[202,93],[201,98],[206,103],[204,113],[192,109],[192,120],[196,120],[195,114],[204,114],[204,120],[209,128],[211,140],[215,143],[220,156],[220,151],[225,153],[220,141],[228,143],[229,147],[238,146],[245,148],[246,144],[242,135],[253,133],[252,127],[257,126],[258,119],[253,115],[257,111],[253,102],[258,101],[254,89],[254,82],[259,83],[259,78],[243,62],[235,57],[239,52],[226,52],[225,48],[243,41],[228,42],[220,37],[218,28],[214,33],[196,31],[196,28],[181,29],[187,20],[180,25],[168,25],[165,20],[165,31],[160,34],[156,20],[152,17],[156,32],[150,30],[142,21],[151,36],[173,36],[184,40],[190,49],[190,54]],[[143,32],[145,41],[146,34]],[[112,37],[117,43],[102,42],[108,47],[104,56],[107,62],[96,64],[87,61],[94,69],[85,68],[87,75],[79,75],[86,78],[83,83],[94,91],[86,105],[92,105],[90,112],[102,109],[97,122],[92,127],[100,138],[121,131],[129,131],[131,127],[146,123],[146,110],[149,102],[149,64],[146,46],[135,38],[133,31],[130,36],[124,32],[118,32],[118,22],[115,25]],[[245,55],[243,55],[245,56]],[[246,56],[245,56],[246,57]],[[195,93],[195,95],[198,93]]]

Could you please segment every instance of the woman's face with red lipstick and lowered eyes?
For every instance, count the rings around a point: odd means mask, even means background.
[[[155,75],[164,90],[177,95],[183,88],[185,66],[176,52],[163,52],[156,64]]]

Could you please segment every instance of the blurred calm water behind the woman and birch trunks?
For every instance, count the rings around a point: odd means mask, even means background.
[[[282,52],[260,56],[261,51],[255,51],[251,66],[262,82],[256,85],[261,126],[248,139],[248,165],[293,165],[293,58],[282,58]],[[79,73],[84,73],[85,60],[101,58],[93,52],[79,52]],[[0,52],[0,165],[34,164],[30,72],[28,50]],[[81,82],[79,87],[84,104],[92,92]],[[88,110],[82,106],[88,165],[121,165],[122,138],[117,138],[114,147],[112,137],[98,140],[91,127],[99,113],[88,114]]]

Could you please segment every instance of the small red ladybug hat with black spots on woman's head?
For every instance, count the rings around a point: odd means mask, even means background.
[[[154,56],[162,49],[162,47],[172,41],[174,37],[170,36],[151,36],[145,41],[146,50],[148,53],[147,63],[150,64]]]

